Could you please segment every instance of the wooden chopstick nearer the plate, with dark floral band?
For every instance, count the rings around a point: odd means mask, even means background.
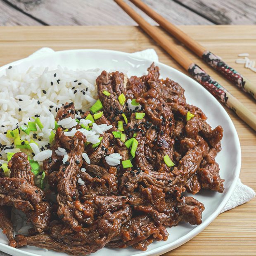
[[[156,43],[158,43],[166,52],[169,53],[184,69],[186,69],[191,76],[193,76],[201,85],[211,92],[213,96],[223,102],[230,109],[244,120],[251,128],[256,130],[256,115],[247,109],[241,102],[239,102],[233,95],[223,88],[218,82],[214,81],[204,70],[197,64],[193,63],[182,51],[180,51],[174,43],[163,36],[158,28],[151,26],[145,21],[137,12],[133,10],[123,0],[114,0],[137,24],[149,35]]]

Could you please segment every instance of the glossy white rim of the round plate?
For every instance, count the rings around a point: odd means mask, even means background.
[[[40,49],[39,49],[40,50]],[[60,50],[60,51],[54,51],[54,52],[47,52],[47,53],[43,53],[43,57],[47,57],[48,55],[55,55],[55,54],[61,54],[62,52],[64,53],[69,53],[69,52],[108,52],[108,53],[115,53],[115,54],[119,54],[119,55],[123,55],[125,57],[129,57],[132,59],[139,59],[139,60],[144,60],[144,61],[149,61],[149,59],[147,58],[143,58],[143,57],[137,57],[135,55],[132,55],[132,53],[128,53],[128,52],[122,52],[122,51],[116,51],[116,50],[104,50],[104,49],[72,49],[72,50]],[[30,55],[28,57],[25,57],[23,59],[19,59],[16,60],[14,62],[5,64],[4,66],[0,67],[0,71],[2,71],[2,69],[7,68],[8,66],[14,66],[17,64],[21,64],[22,62],[28,60],[28,59],[40,59],[42,58],[42,55]],[[187,79],[189,79],[189,81],[192,81],[193,83],[197,84],[197,86],[204,88],[202,85],[200,85],[197,81],[195,81],[193,78],[191,78],[190,76],[188,76],[187,74],[183,73],[182,71],[179,71],[178,69],[173,68],[172,66],[169,66],[167,64],[164,64],[162,62],[155,62],[156,65],[160,64],[161,66],[164,66],[167,69],[173,69],[176,72],[178,72],[178,74],[180,76],[186,76]],[[221,213],[222,209],[224,208],[224,206],[227,204],[228,200],[230,199],[233,191],[235,190],[235,185],[237,184],[237,180],[239,178],[239,173],[241,170],[241,164],[242,164],[242,152],[241,152],[241,146],[240,146],[240,142],[239,142],[239,137],[237,134],[237,130],[235,129],[235,125],[232,121],[232,119],[230,118],[230,116],[228,115],[227,111],[224,109],[224,107],[220,104],[220,102],[218,102],[218,100],[216,100],[216,98],[211,95],[211,93],[206,90],[205,93],[207,93],[209,95],[209,97],[211,97],[211,100],[215,101],[216,104],[219,104],[219,106],[221,107],[223,114],[225,115],[225,119],[228,120],[228,123],[230,125],[230,128],[232,129],[232,133],[235,135],[235,144],[237,146],[237,166],[235,168],[235,172],[234,172],[234,178],[233,178],[233,182],[229,187],[228,192],[224,195],[223,200],[221,201],[221,203],[219,204],[219,206],[213,211],[213,213],[211,213],[211,215],[209,215],[209,217],[204,220],[200,225],[197,225],[195,228],[193,228],[192,230],[190,230],[186,235],[183,235],[182,237],[180,237],[179,239],[176,239],[173,242],[170,243],[166,243],[158,248],[152,249],[151,251],[139,251],[136,254],[133,254],[133,256],[158,256],[160,254],[164,254],[167,251],[172,251],[173,249],[180,247],[182,244],[186,243],[187,241],[189,241],[190,239],[194,238],[196,235],[198,235],[200,232],[202,232],[211,222],[213,222],[213,220]],[[15,251],[15,252],[19,252],[21,255],[28,255],[28,256],[40,256],[39,254],[34,254],[31,252],[27,252],[27,251],[21,251],[17,248],[13,248],[10,247],[7,244],[2,244],[0,242],[1,245],[1,250],[2,249],[6,249],[6,253],[11,253],[11,251]]]

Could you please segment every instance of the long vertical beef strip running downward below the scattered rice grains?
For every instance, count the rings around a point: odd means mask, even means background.
[[[81,230],[81,226],[73,215],[74,204],[76,203],[76,198],[78,198],[77,174],[83,164],[82,153],[84,152],[85,142],[85,135],[79,131],[76,132],[73,138],[73,149],[69,153],[69,158],[66,163],[60,166],[60,171],[57,173],[57,202],[59,204],[57,213],[59,218],[76,231]]]

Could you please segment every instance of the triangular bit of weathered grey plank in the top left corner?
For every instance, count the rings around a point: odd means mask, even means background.
[[[0,2],[0,26],[40,26],[41,24],[15,10],[5,2]]]

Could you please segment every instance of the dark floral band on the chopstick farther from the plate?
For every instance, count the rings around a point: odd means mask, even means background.
[[[235,69],[232,69],[225,62],[223,62],[223,60],[220,57],[206,50],[202,55],[202,59],[209,65],[211,65],[214,69],[216,69],[220,73],[223,73],[223,75],[228,80],[232,81],[240,89],[246,92],[246,90],[244,89],[245,81],[242,75],[240,75]]]

